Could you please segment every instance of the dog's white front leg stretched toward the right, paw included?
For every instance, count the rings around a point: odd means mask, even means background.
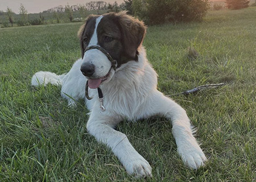
[[[193,136],[192,125],[186,111],[161,92],[156,92],[147,105],[151,108],[150,115],[160,114],[171,119],[172,134],[183,162],[194,169],[203,166],[207,158]]]

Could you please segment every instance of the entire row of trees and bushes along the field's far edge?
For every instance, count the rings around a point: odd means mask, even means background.
[[[226,0],[228,9],[242,9],[249,6],[250,0]],[[216,9],[218,7],[216,6]],[[137,16],[146,24],[163,24],[168,22],[200,21],[209,10],[209,0],[125,0],[118,5],[117,2],[90,1],[80,5],[57,6],[37,14],[37,18],[29,19],[28,11],[20,4],[18,26],[46,23],[47,19],[53,19],[56,23],[63,20],[68,22],[81,21],[89,14],[102,14],[126,10],[127,13]],[[5,16],[4,26],[13,26],[15,19],[13,11],[7,7],[6,11],[0,11]],[[51,17],[49,17],[51,15]]]

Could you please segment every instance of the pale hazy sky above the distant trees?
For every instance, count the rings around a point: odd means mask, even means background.
[[[10,7],[14,13],[19,13],[20,3],[24,5],[28,13],[40,13],[44,10],[48,10],[52,7],[59,5],[77,5],[85,4],[86,2],[96,1],[96,0],[0,0],[0,10],[6,11],[7,6]],[[122,3],[123,0],[103,0],[105,2],[115,2],[118,4]]]

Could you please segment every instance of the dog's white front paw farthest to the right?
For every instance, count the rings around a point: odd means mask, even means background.
[[[197,169],[200,166],[204,165],[204,162],[207,161],[207,158],[204,155],[204,152],[199,146],[197,147],[186,147],[183,150],[178,150],[181,159],[188,167]]]

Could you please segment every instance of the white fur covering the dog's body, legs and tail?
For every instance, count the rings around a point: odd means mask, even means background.
[[[137,177],[152,176],[151,167],[131,146],[126,135],[114,130],[114,126],[124,119],[137,121],[154,115],[171,120],[177,151],[183,162],[193,169],[202,166],[207,159],[193,137],[186,111],[157,90],[157,75],[148,63],[146,51],[141,46],[138,52],[138,61],[129,61],[121,65],[115,73],[112,71],[108,81],[102,82],[105,111],[100,110],[97,89],[89,89],[90,97],[94,96],[92,100],[88,101],[85,98],[86,77],[80,72],[84,59],[77,60],[65,76],[38,72],[32,77],[31,84],[37,86],[49,82],[62,83],[61,96],[67,98],[69,105],[74,105],[76,100],[84,98],[90,110],[86,125],[88,132],[99,142],[112,148],[113,153],[130,174]],[[101,57],[99,53],[94,51],[88,55]],[[90,56],[88,59],[92,58]]]

